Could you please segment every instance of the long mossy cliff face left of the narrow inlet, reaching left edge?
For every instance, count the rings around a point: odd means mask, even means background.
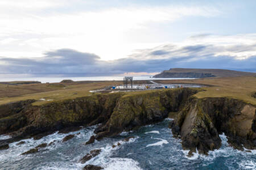
[[[40,138],[43,133],[69,126],[102,124],[96,130],[97,139],[100,139],[163,120],[169,110],[178,111],[195,93],[196,90],[184,88],[132,96],[122,93],[92,95],[40,106],[32,106],[33,100],[20,101],[1,106],[0,134],[10,133],[15,140]]]

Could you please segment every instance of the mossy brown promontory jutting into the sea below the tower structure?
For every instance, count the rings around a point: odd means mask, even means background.
[[[162,121],[169,112],[179,111],[195,93],[196,90],[183,88],[122,96],[108,122],[94,131],[96,139]]]

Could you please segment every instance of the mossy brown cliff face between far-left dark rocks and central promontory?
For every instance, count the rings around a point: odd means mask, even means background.
[[[20,111],[26,119],[26,124],[21,125],[19,130],[9,131],[13,132],[11,135],[14,137],[40,138],[42,133],[51,133],[70,126],[104,123],[109,119],[117,100],[122,95],[92,95],[40,106],[30,105]]]

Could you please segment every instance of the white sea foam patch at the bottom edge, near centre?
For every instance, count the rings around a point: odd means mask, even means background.
[[[110,158],[109,162],[104,167],[105,170],[137,170],[141,169],[139,163],[129,158]]]

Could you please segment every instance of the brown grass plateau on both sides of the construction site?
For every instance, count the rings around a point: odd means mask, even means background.
[[[155,80],[157,83],[189,83],[204,84],[209,87],[201,87],[204,91],[198,92],[195,96],[204,97],[230,97],[241,99],[247,103],[256,105],[256,99],[251,96],[256,91],[256,78],[253,76],[241,76],[233,78],[205,78],[190,80]],[[137,81],[135,83],[148,83],[148,81]],[[90,90],[97,90],[106,86],[116,86],[122,81],[94,81],[74,83],[51,83],[51,84],[0,84],[0,105],[13,101],[35,99],[34,105],[75,99],[76,97],[92,95]],[[144,91],[150,92],[150,91]],[[142,93],[144,93],[142,92]],[[141,92],[127,92],[129,95]],[[39,100],[46,99],[46,100]],[[49,100],[49,101],[47,101]]]

